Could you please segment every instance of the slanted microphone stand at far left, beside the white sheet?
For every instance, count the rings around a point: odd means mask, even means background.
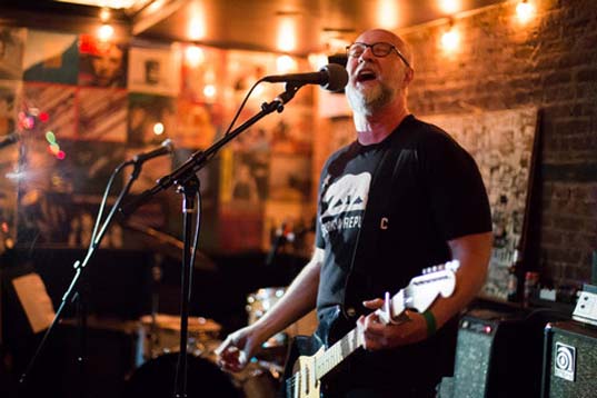
[[[80,332],[80,336],[79,336],[79,342],[80,342],[80,349],[81,349],[81,352],[79,355],[79,357],[77,358],[77,361],[79,362],[79,367],[80,367],[80,371],[81,371],[81,378],[80,378],[80,385],[81,386],[84,386],[84,379],[83,379],[83,369],[84,369],[84,356],[83,356],[83,351],[84,351],[84,348],[86,348],[86,329],[87,329],[87,314],[84,314],[84,304],[82,304],[82,299],[81,299],[81,293],[78,289],[78,286],[79,286],[79,282],[82,280],[82,277],[84,275],[84,269],[87,267],[87,265],[89,263],[89,260],[92,258],[93,253],[96,252],[96,249],[100,246],[101,243],[101,240],[103,239],[103,236],[106,235],[106,231],[108,230],[108,226],[110,225],[110,222],[112,221],[115,215],[116,215],[116,211],[119,209],[120,207],[120,203],[122,202],[122,200],[125,199],[125,197],[128,195],[132,183],[135,182],[135,180],[137,180],[137,178],[139,177],[139,173],[141,172],[141,167],[142,167],[142,162],[136,162],[136,161],[125,161],[122,163],[120,163],[117,169],[115,170],[115,173],[118,173],[120,172],[120,170],[122,168],[125,168],[126,166],[128,165],[133,165],[135,168],[129,177],[129,180],[127,181],[127,185],[125,186],[125,188],[122,189],[122,191],[120,192],[120,195],[118,196],[115,205],[112,206],[112,209],[110,210],[110,213],[106,217],[106,221],[103,222],[101,229],[99,230],[98,235],[93,238],[93,240],[89,243],[89,249],[87,251],[87,255],[84,257],[84,259],[82,261],[80,260],[77,260],[74,261],[73,263],[73,268],[74,268],[74,276],[70,282],[70,286],[68,287],[67,291],[64,292],[64,295],[62,296],[62,301],[60,304],[60,307],[58,308],[58,310],[56,311],[56,315],[54,315],[54,318],[50,325],[50,327],[48,328],[48,330],[46,330],[46,334],[43,335],[43,338],[41,339],[40,344],[38,345],[38,348],[36,349],[36,352],[33,354],[33,357],[31,358],[31,360],[29,361],[26,370],[22,372],[20,379],[19,379],[19,384],[22,387],[26,386],[26,381],[28,380],[27,377],[29,376],[29,374],[31,372],[31,370],[33,369],[33,366],[38,359],[38,357],[40,356],[41,351],[43,350],[43,348],[46,347],[46,342],[48,341],[48,338],[49,336],[51,335],[51,332],[54,330],[56,326],[58,325],[61,316],[62,316],[62,312],[64,311],[68,302],[74,302],[74,300],[78,300],[78,306],[77,306],[77,317],[78,317],[78,321],[77,321],[77,326],[78,326],[78,329],[79,329],[79,332]],[[81,387],[81,396],[84,396],[83,391],[82,391],[82,387]]]

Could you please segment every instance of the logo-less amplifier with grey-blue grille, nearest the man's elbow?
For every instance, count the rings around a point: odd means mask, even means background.
[[[469,311],[458,330],[451,396],[536,397],[540,390],[541,330],[543,326],[534,327],[524,315]]]

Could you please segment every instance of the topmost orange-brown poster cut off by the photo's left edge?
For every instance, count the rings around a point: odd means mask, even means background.
[[[0,79],[20,80],[27,29],[0,27]]]

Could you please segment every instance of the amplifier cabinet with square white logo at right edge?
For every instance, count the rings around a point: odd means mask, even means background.
[[[597,396],[597,328],[575,321],[545,327],[541,397]]]

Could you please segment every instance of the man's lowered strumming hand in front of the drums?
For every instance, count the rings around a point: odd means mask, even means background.
[[[255,325],[228,335],[215,351],[218,365],[227,371],[242,370],[265,340]]]

